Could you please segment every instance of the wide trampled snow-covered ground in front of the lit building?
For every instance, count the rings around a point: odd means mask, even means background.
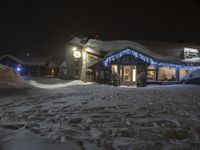
[[[0,149],[197,150],[199,90],[199,85],[73,84],[28,87],[20,95],[0,91]]]

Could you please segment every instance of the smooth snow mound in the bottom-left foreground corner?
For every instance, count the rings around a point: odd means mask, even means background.
[[[80,150],[75,142],[64,143],[50,141],[31,133],[28,130],[0,129],[1,150]]]

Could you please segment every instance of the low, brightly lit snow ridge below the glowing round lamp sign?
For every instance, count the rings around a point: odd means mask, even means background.
[[[68,83],[59,83],[59,84],[42,84],[38,83],[36,81],[30,80],[29,84],[38,88],[43,88],[43,89],[56,89],[56,88],[63,88],[63,87],[68,87],[68,86],[73,86],[73,85],[90,85],[93,84],[91,82],[83,82],[80,80],[74,80]]]

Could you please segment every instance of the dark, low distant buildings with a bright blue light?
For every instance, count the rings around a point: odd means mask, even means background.
[[[0,63],[12,67],[23,76],[57,77],[59,75],[60,60],[50,57],[17,58],[3,55],[0,56]]]

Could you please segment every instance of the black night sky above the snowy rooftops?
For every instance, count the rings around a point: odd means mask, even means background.
[[[62,53],[70,36],[200,44],[200,3],[9,1],[0,4],[0,54]]]

